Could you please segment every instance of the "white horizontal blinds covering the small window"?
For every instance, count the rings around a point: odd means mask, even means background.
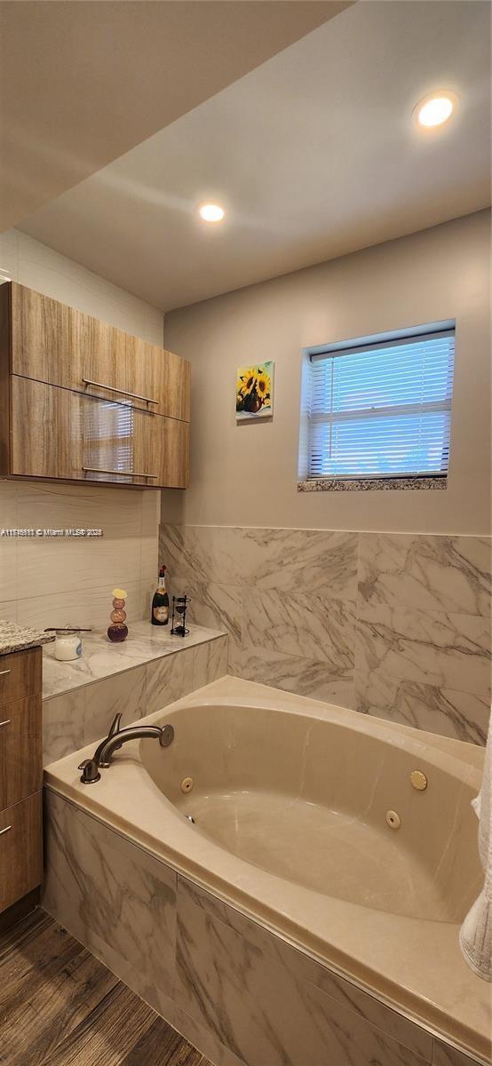
[[[445,329],[312,355],[309,478],[445,474],[454,353]]]

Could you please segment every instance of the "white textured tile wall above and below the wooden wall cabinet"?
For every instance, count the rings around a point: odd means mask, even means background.
[[[11,278],[162,344],[162,311],[24,233],[0,236],[0,281]],[[39,627],[108,625],[111,589],[128,591],[130,620],[155,584],[159,492],[0,481],[0,528],[101,528],[91,542],[0,540],[0,617]]]

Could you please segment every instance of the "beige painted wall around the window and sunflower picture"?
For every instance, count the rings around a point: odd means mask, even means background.
[[[298,494],[301,349],[456,318],[446,491]],[[166,316],[193,364],[192,478],[163,520],[488,533],[490,212],[481,211]],[[272,422],[235,423],[237,366],[274,359]]]

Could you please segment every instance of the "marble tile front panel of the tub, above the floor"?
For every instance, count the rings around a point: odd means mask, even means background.
[[[46,855],[43,906],[215,1066],[475,1063],[50,791]]]

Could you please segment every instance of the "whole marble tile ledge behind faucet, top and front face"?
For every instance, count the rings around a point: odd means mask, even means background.
[[[226,635],[192,627],[169,637],[141,623],[120,645],[85,634],[84,655],[61,663],[44,656],[44,764],[103,737],[117,713],[124,725],[150,714],[227,673]]]

